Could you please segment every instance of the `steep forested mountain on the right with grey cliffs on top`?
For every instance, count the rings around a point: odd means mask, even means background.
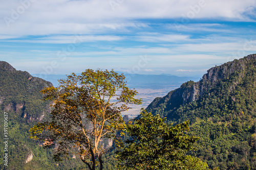
[[[196,156],[211,168],[256,169],[256,55],[216,66],[147,108],[169,122],[189,119]]]

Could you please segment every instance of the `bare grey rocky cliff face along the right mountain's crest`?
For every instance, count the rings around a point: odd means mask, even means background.
[[[231,91],[236,88],[236,85],[245,76],[246,65],[252,60],[256,60],[256,54],[212,67],[207,70],[207,73],[199,82],[188,81],[183,83],[180,88],[170,91],[166,96],[156,98],[147,107],[147,111],[166,116],[179,106],[197,101],[203,94],[210,93],[220,81],[236,76],[238,78],[237,81],[228,87],[229,91]]]

